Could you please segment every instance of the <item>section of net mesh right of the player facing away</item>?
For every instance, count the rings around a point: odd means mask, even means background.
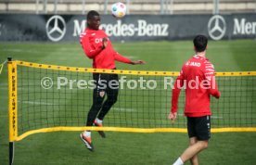
[[[254,127],[256,124],[255,76],[217,77],[220,100],[211,99],[213,127]],[[214,119],[215,118],[215,119]]]

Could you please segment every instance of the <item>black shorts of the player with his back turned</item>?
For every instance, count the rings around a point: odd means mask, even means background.
[[[209,140],[211,138],[211,116],[187,117],[187,133],[189,138]]]

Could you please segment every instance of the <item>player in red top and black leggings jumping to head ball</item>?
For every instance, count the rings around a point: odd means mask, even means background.
[[[133,65],[145,64],[142,60],[131,60],[127,57],[122,57],[122,55],[116,52],[107,34],[98,29],[99,25],[99,14],[94,10],[89,11],[87,14],[87,27],[80,35],[80,43],[82,44],[83,51],[87,57],[93,59],[94,69],[116,70],[116,60]],[[102,121],[109,112],[109,109],[116,103],[119,92],[119,85],[109,86],[109,82],[118,82],[119,78],[117,74],[108,73],[94,73],[93,77],[96,82],[96,88],[94,89],[93,105],[88,112],[86,126],[102,126]],[[99,85],[102,83],[106,85]],[[103,86],[106,86],[106,88],[102,88]],[[105,95],[108,97],[103,103]],[[103,138],[106,137],[103,131],[99,131],[98,133]],[[94,146],[92,144],[91,132],[84,131],[80,136],[85,146],[90,151],[93,151]]]

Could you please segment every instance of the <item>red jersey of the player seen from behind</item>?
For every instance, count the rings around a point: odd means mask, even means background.
[[[215,81],[214,67],[205,57],[190,58],[180,71],[173,86],[172,112],[178,109],[181,88],[186,89],[185,116],[202,117],[211,115],[210,96],[220,97]]]

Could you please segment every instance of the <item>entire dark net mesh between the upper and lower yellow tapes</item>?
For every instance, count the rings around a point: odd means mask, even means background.
[[[176,77],[119,74],[117,103],[104,126],[132,128],[186,128],[185,92],[179,97],[178,119],[168,120]],[[18,66],[19,134],[41,128],[83,127],[93,103],[92,72]],[[143,83],[140,81],[143,80]],[[256,77],[216,77],[222,96],[211,98],[211,127],[256,126]],[[136,84],[136,85],[135,85]],[[157,84],[157,85],[155,85]]]

